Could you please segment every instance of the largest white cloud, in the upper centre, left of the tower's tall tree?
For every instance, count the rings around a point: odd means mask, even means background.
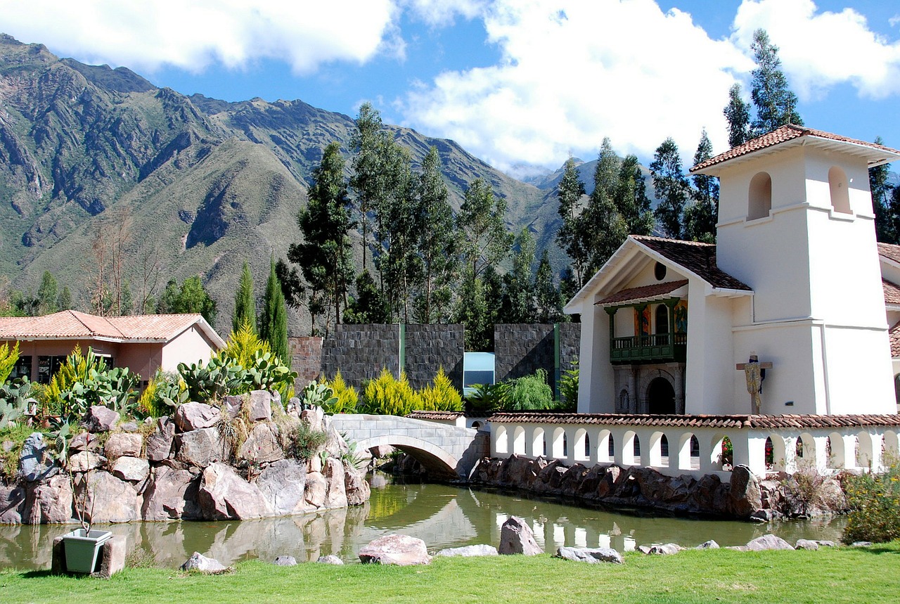
[[[410,92],[410,125],[503,169],[592,158],[605,136],[643,158],[671,136],[688,158],[704,127],[725,149],[728,88],[752,62],[689,14],[653,0],[497,0],[484,18],[500,63]]]

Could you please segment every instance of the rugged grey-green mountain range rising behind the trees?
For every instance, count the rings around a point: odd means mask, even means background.
[[[451,203],[482,177],[507,198],[509,230],[549,247],[551,189],[520,182],[452,140],[389,126],[413,162],[437,147]],[[36,290],[50,270],[85,305],[98,257],[120,258],[139,297],[170,277],[202,275],[227,331],[246,259],[261,293],[269,257],[300,239],[312,169],[353,120],[302,101],[229,103],[157,88],[127,68],[59,59],[0,34],[0,275]],[[357,240],[358,247],[358,240]],[[308,319],[294,313],[291,328]]]

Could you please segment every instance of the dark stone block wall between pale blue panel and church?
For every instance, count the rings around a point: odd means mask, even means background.
[[[578,358],[581,345],[581,324],[560,323],[560,373],[572,368]],[[501,324],[494,326],[494,367],[495,381],[534,374],[544,369],[558,396],[554,384],[556,371],[554,325],[546,324]]]

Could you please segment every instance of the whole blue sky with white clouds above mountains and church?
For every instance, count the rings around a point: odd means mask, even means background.
[[[148,7],[152,6],[152,10]],[[0,0],[0,31],[229,101],[364,101],[514,175],[570,153],[686,161],[749,98],[752,32],[780,47],[806,124],[900,148],[900,3],[871,0]]]

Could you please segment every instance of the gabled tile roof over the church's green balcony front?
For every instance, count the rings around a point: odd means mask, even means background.
[[[650,237],[646,235],[629,235],[616,253],[610,257],[606,264],[600,267],[588,283],[576,293],[572,300],[566,304],[564,311],[581,312],[579,302],[590,295],[595,295],[601,284],[619,270],[619,265],[626,261],[626,257],[634,257],[635,250],[644,252],[658,262],[677,266],[680,273],[685,276],[693,276],[704,281],[713,290],[714,294],[743,295],[752,294],[752,288],[728,275],[716,266],[716,246],[711,243],[698,243],[697,241],[680,241],[678,239],[663,239],[662,237]],[[613,295],[610,293],[608,295]],[[629,294],[630,295],[630,294]],[[606,303],[606,302],[603,302]]]

